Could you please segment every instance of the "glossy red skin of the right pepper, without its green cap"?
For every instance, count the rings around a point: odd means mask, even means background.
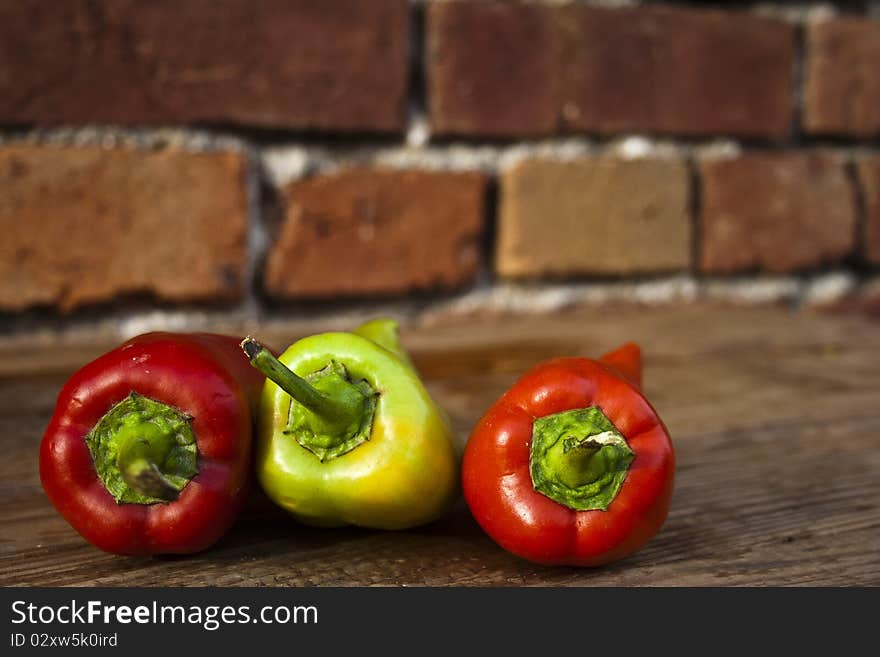
[[[635,552],[660,529],[675,458],[666,427],[638,390],[640,378],[640,351],[631,343],[598,361],[553,359],[483,416],[465,449],[462,486],[473,516],[499,545],[536,563],[598,566]],[[555,502],[533,488],[529,472],[535,419],[589,406],[605,413],[635,453],[605,511]]]

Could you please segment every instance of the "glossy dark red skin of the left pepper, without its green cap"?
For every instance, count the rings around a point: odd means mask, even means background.
[[[148,333],[129,340],[61,390],[40,447],[43,488],[74,529],[107,552],[203,550],[229,529],[247,494],[263,382],[234,337]],[[118,504],[95,470],[85,436],[131,392],[192,417],[198,473],[173,502]]]

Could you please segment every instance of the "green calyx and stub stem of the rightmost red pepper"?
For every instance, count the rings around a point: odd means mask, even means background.
[[[535,490],[576,511],[605,511],[635,453],[598,406],[535,420],[529,472]]]

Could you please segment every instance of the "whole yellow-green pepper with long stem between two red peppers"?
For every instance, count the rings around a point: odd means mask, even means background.
[[[453,432],[396,322],[313,335],[279,359],[252,338],[242,347],[267,377],[256,468],[276,504],[310,525],[406,529],[455,501]]]

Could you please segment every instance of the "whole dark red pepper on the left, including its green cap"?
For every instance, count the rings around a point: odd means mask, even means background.
[[[40,478],[83,538],[117,554],[191,553],[229,529],[248,490],[264,381],[238,342],[148,333],[67,381]]]

